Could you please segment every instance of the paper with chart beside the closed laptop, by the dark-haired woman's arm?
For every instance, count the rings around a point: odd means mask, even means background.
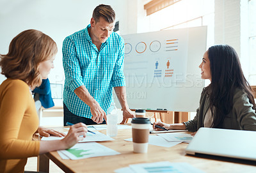
[[[174,142],[174,141],[190,142],[193,139],[193,136],[187,133],[159,133],[157,135],[160,137],[163,137],[169,142]]]

